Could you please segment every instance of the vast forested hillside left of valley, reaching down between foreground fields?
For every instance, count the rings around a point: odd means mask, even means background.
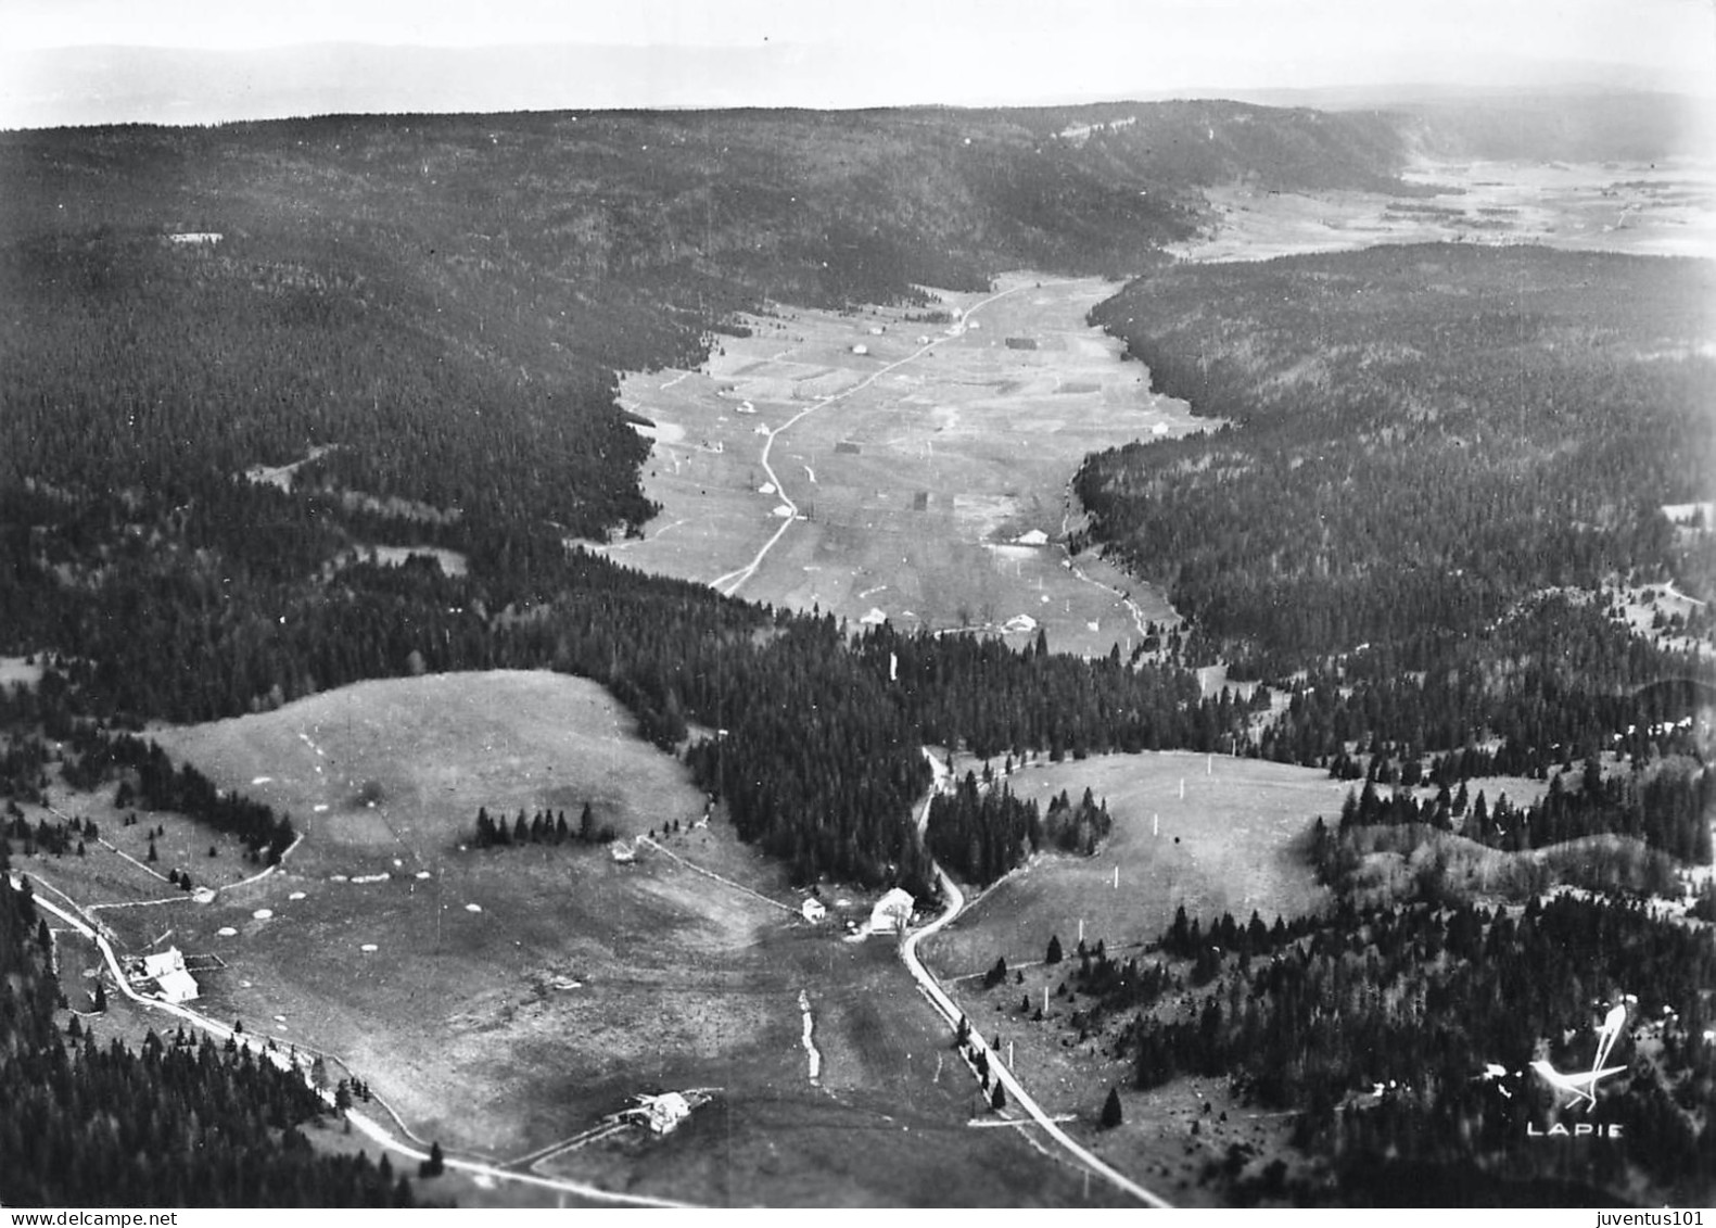
[[[1078,752],[1205,745],[1236,714],[1045,646],[1007,658],[1030,694],[1006,728],[949,714],[946,680],[896,711],[832,623],[753,644],[767,611],[568,555],[652,514],[614,371],[695,362],[765,299],[1136,271],[1191,232],[1198,184],[1383,185],[1397,161],[1380,120],[1236,103],[0,136],[0,651],[57,653],[65,720],[120,725],[583,673],[662,745],[728,728],[697,769],[798,874],[927,890],[928,725]],[[420,544],[468,570],[350,562]],[[831,771],[868,745],[858,783]]]

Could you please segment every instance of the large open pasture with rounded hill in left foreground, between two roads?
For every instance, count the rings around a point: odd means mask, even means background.
[[[839,938],[841,915],[870,900],[834,893],[832,924],[801,922],[800,897],[719,812],[685,830],[704,795],[594,684],[510,672],[369,682],[154,737],[221,787],[288,811],[307,836],[280,871],[209,903],[103,910],[120,950],[172,929],[163,943],[218,955],[225,967],[199,976],[202,1010],[340,1056],[424,1139],[511,1161],[631,1094],[719,1087],[681,1134],[589,1147],[544,1171],[717,1204],[1083,1199],[1069,1170],[1014,1132],[966,1125],[971,1079],[892,946]],[[623,836],[654,828],[779,907],[652,850],[621,866],[577,845],[460,848],[477,805],[566,809],[575,823],[583,800]],[[681,831],[661,835],[673,819]],[[196,824],[144,823],[168,828],[163,845],[182,828],[206,857]],[[21,862],[79,902],[180,895],[112,854]],[[74,981],[86,955],[74,951]],[[127,1008],[100,1027],[141,1036],[151,1022]],[[523,1197],[456,1187],[462,1202]]]

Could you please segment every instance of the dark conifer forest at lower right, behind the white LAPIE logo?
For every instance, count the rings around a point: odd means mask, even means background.
[[[1572,897],[1340,905],[1273,927],[1227,915],[1201,931],[1181,910],[1155,958],[1081,950],[1066,982],[1074,1025],[1121,1027],[1139,1087],[1225,1077],[1249,1104],[1301,1109],[1296,1144],[1318,1168],[1292,1188],[1253,1185],[1251,1199],[1383,1206],[1464,1206],[1472,1188],[1479,1202],[1584,1206],[1639,1188],[1639,1175],[1646,1201],[1707,1201],[1711,984],[1706,931]],[[1596,1111],[1623,1137],[1544,1146],[1527,1130],[1575,1118],[1527,1068],[1589,1067],[1594,1024],[1618,1001],[1628,1013],[1611,1065],[1627,1073]],[[1409,1185],[1376,1178],[1407,1170]]]

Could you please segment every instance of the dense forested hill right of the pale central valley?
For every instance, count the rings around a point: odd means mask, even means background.
[[[1457,244],[1151,275],[1093,318],[1158,390],[1232,426],[1091,457],[1093,532],[1251,677],[1368,646],[1380,677],[1481,672],[1486,706],[1452,711],[1503,723],[1572,629],[1584,660],[1565,668],[1587,685],[1565,720],[1586,725],[1598,697],[1689,663],[1526,605],[1713,575],[1716,538],[1677,539],[1659,512],[1713,493],[1711,277]]]

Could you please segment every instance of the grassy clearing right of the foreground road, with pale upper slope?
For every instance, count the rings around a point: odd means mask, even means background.
[[[1091,946],[1103,939],[1124,958],[1157,938],[1179,905],[1206,921],[1230,910],[1241,922],[1253,909],[1273,921],[1323,907],[1326,891],[1294,845],[1316,816],[1340,812],[1347,785],[1306,768],[1191,752],[1033,763],[1012,776],[1016,793],[1045,805],[1060,790],[1076,800],[1086,785],[1114,816],[1114,833],[1097,855],[1038,855],[942,931],[927,962],[952,979],[949,988],[973,1027],[1012,1044],[1014,1073],[1047,1111],[1072,1115],[1076,1125],[1067,1128],[1134,1180],[1198,1206],[1211,1197],[1201,1182],[1205,1164],[1224,1159],[1234,1144],[1249,1147],[1248,1163],[1258,1166],[1278,1156],[1290,1161],[1290,1122],[1256,1116],[1218,1080],[1134,1091],[1133,1065],[1114,1055],[1112,1034],[1079,1041],[1069,1029],[1072,1006],[1055,996],[1067,969],[1042,964],[1048,938],[1057,934],[1071,955],[1083,921]],[[982,974],[997,955],[1014,977],[985,991]],[[1036,1020],[1045,989],[1048,1010]],[[1031,1013],[1019,1010],[1024,998]],[[1110,1087],[1121,1089],[1126,1120],[1117,1130],[1098,1130]]]

